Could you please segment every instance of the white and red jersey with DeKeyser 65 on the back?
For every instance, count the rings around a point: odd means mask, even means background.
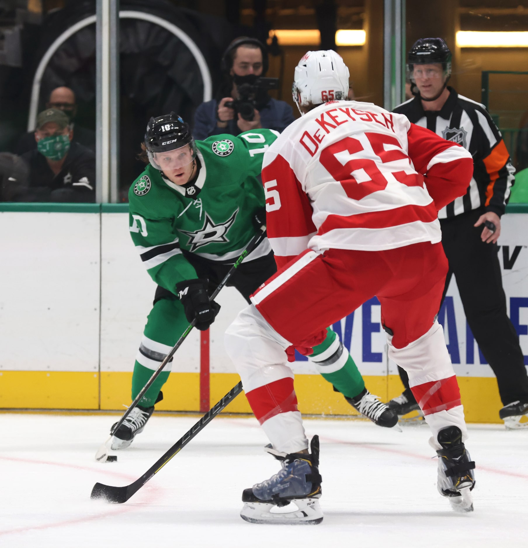
[[[282,266],[306,248],[376,251],[441,240],[438,210],[462,196],[461,146],[372,103],[331,101],[264,154],[268,238]]]

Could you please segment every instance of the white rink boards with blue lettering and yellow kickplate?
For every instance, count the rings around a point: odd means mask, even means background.
[[[528,206],[503,217],[499,261],[510,318],[528,364]],[[513,210],[512,207],[509,208]],[[155,284],[128,231],[126,204],[0,204],[0,408],[123,409]],[[232,288],[210,330],[214,403],[239,378],[223,333],[245,301]],[[496,422],[501,407],[490,367],[467,327],[455,280],[439,319],[469,421]],[[380,306],[371,299],[334,324],[371,392],[398,395],[401,383],[387,358]],[[200,408],[200,336],[178,350],[157,408]],[[299,356],[299,358],[302,358]],[[353,414],[310,362],[293,364],[304,413]],[[249,412],[240,396],[228,408]]]

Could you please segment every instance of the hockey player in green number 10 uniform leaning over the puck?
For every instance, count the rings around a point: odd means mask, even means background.
[[[132,399],[193,319],[200,330],[213,323],[220,307],[208,294],[265,222],[260,170],[263,152],[278,135],[255,129],[195,142],[188,124],[173,112],[150,119],[143,147],[149,165],[130,187],[129,216],[134,245],[158,287],[136,356]],[[264,238],[227,285],[249,302],[276,270]],[[396,424],[398,416],[365,389],[353,359],[331,330],[309,359],[360,413],[381,426]],[[128,447],[143,430],[163,397],[160,390],[173,363],[114,433],[112,449]]]

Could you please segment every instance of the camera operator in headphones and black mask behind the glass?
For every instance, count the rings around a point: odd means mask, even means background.
[[[266,92],[255,98],[257,108],[254,118],[247,121],[226,102],[239,98],[238,86],[243,83],[254,83],[258,76],[264,76],[268,70],[268,54],[264,45],[256,38],[242,36],[231,42],[225,50],[222,65],[226,85],[220,90],[219,97],[203,102],[195,112],[194,137],[197,140],[207,139],[211,135],[230,133],[238,135],[250,129],[268,128],[282,132],[294,120],[292,107],[285,101],[277,101]]]

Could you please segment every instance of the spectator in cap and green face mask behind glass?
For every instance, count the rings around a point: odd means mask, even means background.
[[[95,156],[72,141],[66,114],[47,109],[37,117],[37,149],[22,159],[29,165],[27,194],[17,202],[94,202]]]

